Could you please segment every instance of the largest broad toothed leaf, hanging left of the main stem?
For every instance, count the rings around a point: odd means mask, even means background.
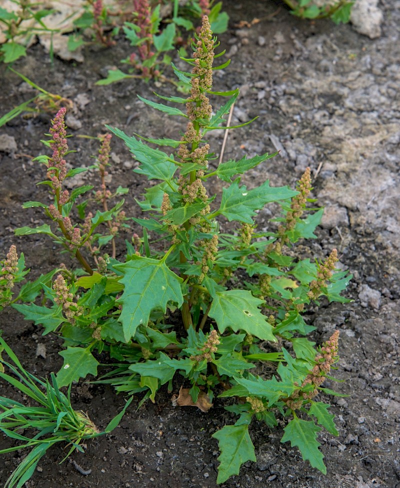
[[[140,324],[147,325],[152,310],[166,312],[168,302],[183,303],[182,281],[163,260],[133,255],[130,261],[113,266],[123,274],[119,280],[124,289],[118,302],[122,303],[119,322],[128,341]]]

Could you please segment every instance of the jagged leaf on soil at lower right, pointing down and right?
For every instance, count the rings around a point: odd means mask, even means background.
[[[293,418],[283,429],[284,434],[280,442],[290,441],[291,447],[298,447],[304,461],[308,460],[312,467],[326,474],[326,466],[323,463],[323,454],[318,449],[321,445],[317,440],[317,433],[321,430],[310,420]]]

